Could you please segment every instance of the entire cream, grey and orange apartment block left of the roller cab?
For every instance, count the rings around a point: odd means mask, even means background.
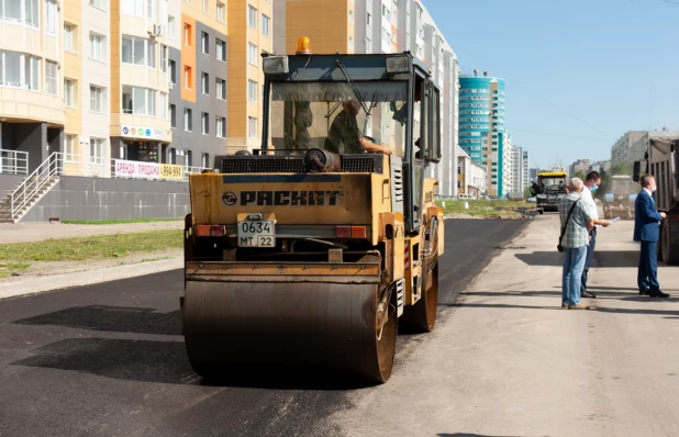
[[[259,146],[271,41],[270,0],[0,0],[2,163],[110,177]]]

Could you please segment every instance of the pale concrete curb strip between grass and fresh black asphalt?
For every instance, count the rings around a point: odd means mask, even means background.
[[[162,259],[158,261],[105,267],[102,269],[78,271],[75,273],[54,274],[26,279],[23,281],[0,283],[0,300],[42,293],[44,291],[60,290],[70,287],[91,285],[93,283],[116,281],[120,279],[159,273],[163,271],[181,268],[183,268],[183,256]]]

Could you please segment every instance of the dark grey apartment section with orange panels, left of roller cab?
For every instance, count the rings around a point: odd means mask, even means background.
[[[172,2],[170,2],[172,3]],[[212,167],[227,144],[227,8],[218,0],[183,0],[167,13],[171,144],[165,161]]]

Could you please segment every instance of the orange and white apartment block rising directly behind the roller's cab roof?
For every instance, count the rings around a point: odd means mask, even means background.
[[[443,159],[432,166],[430,176],[441,181],[441,197],[456,195],[459,65],[422,1],[278,0],[274,36],[274,51],[279,54],[293,54],[298,38],[307,36],[319,54],[408,51],[426,64],[442,90]],[[368,135],[380,126],[380,137],[388,137],[393,121],[387,110],[374,112]],[[415,124],[418,120],[415,113]]]

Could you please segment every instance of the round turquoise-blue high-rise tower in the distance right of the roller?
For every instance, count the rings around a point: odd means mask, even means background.
[[[461,75],[459,79],[459,146],[488,170],[488,194],[504,195],[511,181],[511,141],[504,131],[504,79]],[[507,168],[505,168],[507,167]]]

